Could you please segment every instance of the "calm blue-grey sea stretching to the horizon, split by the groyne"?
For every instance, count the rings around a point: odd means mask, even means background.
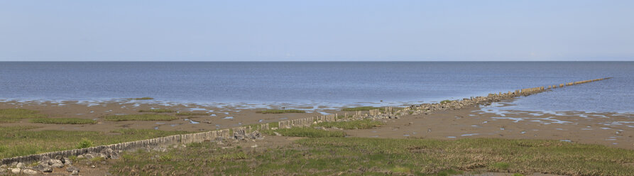
[[[516,104],[633,112],[634,62],[0,62],[0,99],[415,104],[601,77]]]

